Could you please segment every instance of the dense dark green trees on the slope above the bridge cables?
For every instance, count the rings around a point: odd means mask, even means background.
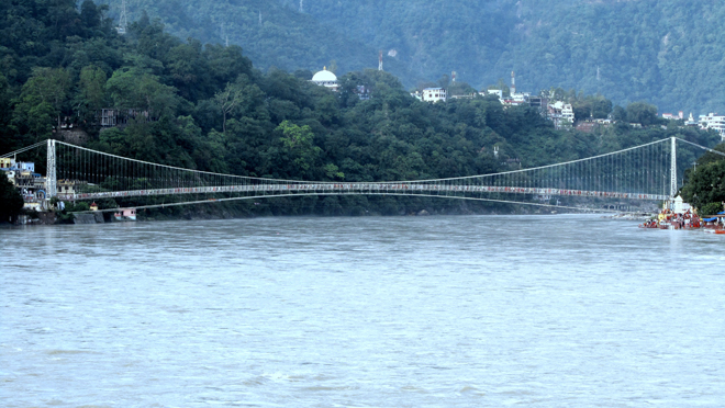
[[[663,128],[645,103],[613,110],[603,97],[560,89],[554,92],[581,112],[624,120],[593,133],[556,131],[536,109],[504,109],[495,98],[421,102],[378,70],[341,76],[339,92],[332,92],[304,72],[261,72],[238,46],[181,41],[146,15],[119,35],[105,8],[90,0],[79,10],[74,0],[2,8],[0,26],[34,29],[30,37],[9,29],[0,37],[0,151],[64,138],[58,124],[72,124],[91,148],[159,163],[264,178],[392,181],[547,165],[669,136],[706,146],[718,139],[674,123]],[[101,131],[102,107],[145,112],[148,120]],[[337,214],[346,200],[367,206],[365,197],[324,200],[323,209],[310,211]],[[376,205],[400,211],[391,200]]]

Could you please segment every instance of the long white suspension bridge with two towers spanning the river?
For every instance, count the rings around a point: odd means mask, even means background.
[[[528,169],[448,179],[382,182],[323,182],[222,174],[131,159],[54,139],[0,158],[13,158],[13,162],[23,155],[40,158],[41,149],[45,150],[46,156],[45,178],[34,173],[33,180],[20,177],[15,182],[24,189],[26,201],[47,201],[52,197],[72,202],[174,195],[196,197],[137,206],[140,208],[228,200],[343,194],[419,195],[547,206],[556,206],[543,203],[549,197],[659,202],[674,197],[683,179],[683,169],[692,166],[702,154],[712,151],[725,156],[711,148],[671,137],[604,155]],[[211,199],[202,201],[198,199],[199,195]]]

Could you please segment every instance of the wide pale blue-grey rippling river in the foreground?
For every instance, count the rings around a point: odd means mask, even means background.
[[[599,216],[0,230],[2,407],[722,407],[725,236]]]

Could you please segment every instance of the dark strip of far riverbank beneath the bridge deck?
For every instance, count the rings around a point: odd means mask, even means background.
[[[175,205],[143,208],[142,202],[113,203],[114,207],[137,208],[138,222],[159,220],[197,220],[197,219],[236,219],[274,216],[449,216],[449,215],[554,215],[554,214],[588,214],[588,207],[602,206],[591,201],[576,200],[561,203],[566,206],[548,206],[546,203],[514,204],[488,201],[465,201],[435,199],[425,196],[305,196],[258,199],[230,202],[209,202],[192,205]],[[158,204],[155,204],[158,205]],[[609,205],[611,206],[611,205]],[[642,219],[656,211],[655,205],[638,202],[617,203],[621,211],[639,208],[636,215],[621,213],[612,218]],[[67,205],[70,208],[71,205]],[[86,208],[88,208],[86,206]],[[101,206],[102,208],[102,206]],[[602,208],[603,209],[603,208]],[[25,219],[26,225],[52,224],[100,224],[118,222],[108,208],[100,212],[45,212],[35,213],[33,219]],[[642,214],[642,215],[640,215]]]

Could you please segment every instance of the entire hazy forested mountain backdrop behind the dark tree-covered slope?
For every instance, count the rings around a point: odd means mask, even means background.
[[[303,12],[299,0],[127,3],[130,15],[146,9],[182,38],[228,35],[264,69],[334,59],[346,72],[375,67],[382,49],[386,69],[408,88],[455,70],[480,89],[515,70],[531,92],[561,87],[622,105],[644,100],[660,112],[725,110],[723,2],[305,0]]]

